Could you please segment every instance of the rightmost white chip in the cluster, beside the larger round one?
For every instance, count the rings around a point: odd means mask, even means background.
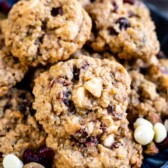
[[[163,124],[156,123],[153,129],[155,131],[155,142],[160,143],[167,137],[167,131]]]

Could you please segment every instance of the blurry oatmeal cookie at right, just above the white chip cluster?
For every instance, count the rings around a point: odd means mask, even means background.
[[[129,72],[132,79],[130,102],[127,109],[130,123],[138,117],[148,118],[151,113],[156,113],[160,117],[167,116],[167,99],[163,96],[164,94],[160,93],[160,87],[144,75],[146,72],[148,72],[147,68],[141,70],[141,73],[135,70]],[[165,94],[166,92],[165,89]]]

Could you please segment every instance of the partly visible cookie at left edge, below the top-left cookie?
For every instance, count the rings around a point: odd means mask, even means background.
[[[23,66],[17,58],[12,57],[6,50],[0,50],[0,97],[20,82],[27,70],[27,66]]]

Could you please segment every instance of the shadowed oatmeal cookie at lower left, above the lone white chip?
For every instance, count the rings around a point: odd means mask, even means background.
[[[22,158],[27,148],[44,145],[45,133],[33,117],[33,97],[24,90],[10,89],[0,98],[0,153]]]

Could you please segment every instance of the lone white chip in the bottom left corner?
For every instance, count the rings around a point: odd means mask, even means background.
[[[22,168],[23,162],[13,154],[8,154],[3,159],[4,168]]]

